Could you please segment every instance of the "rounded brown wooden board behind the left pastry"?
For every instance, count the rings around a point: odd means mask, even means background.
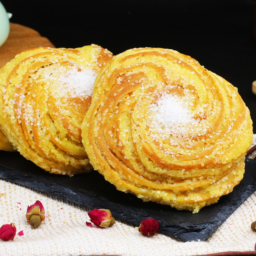
[[[10,23],[9,36],[0,47],[0,68],[12,60],[17,53],[39,46],[54,47],[46,37],[41,36],[36,30]]]

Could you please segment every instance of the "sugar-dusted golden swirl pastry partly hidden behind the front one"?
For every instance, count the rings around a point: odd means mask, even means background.
[[[23,51],[0,70],[0,124],[21,155],[46,171],[92,169],[81,124],[94,80],[112,58],[98,45]]]

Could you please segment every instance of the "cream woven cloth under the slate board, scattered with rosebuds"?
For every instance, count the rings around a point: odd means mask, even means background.
[[[256,138],[254,137],[254,142]],[[0,241],[1,256],[56,256],[116,254],[122,256],[198,255],[230,251],[255,251],[256,193],[250,196],[206,241],[180,242],[156,234],[145,237],[122,221],[110,228],[90,228],[88,210],[35,190],[0,180],[0,226],[13,223],[13,241]],[[40,200],[46,218],[39,228],[26,222],[28,205]]]

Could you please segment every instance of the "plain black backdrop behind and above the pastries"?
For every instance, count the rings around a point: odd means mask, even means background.
[[[190,55],[238,88],[256,133],[256,41],[251,0],[1,0],[11,22],[56,47],[98,44],[113,54],[162,47]]]

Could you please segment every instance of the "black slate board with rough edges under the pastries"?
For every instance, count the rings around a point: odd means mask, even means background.
[[[93,171],[73,177],[45,172],[19,153],[0,152],[0,178],[36,189],[88,209],[109,209],[119,220],[139,226],[146,218],[159,222],[159,233],[181,241],[204,241],[256,190],[256,161],[245,160],[244,179],[233,192],[198,213],[143,202],[125,194]]]

